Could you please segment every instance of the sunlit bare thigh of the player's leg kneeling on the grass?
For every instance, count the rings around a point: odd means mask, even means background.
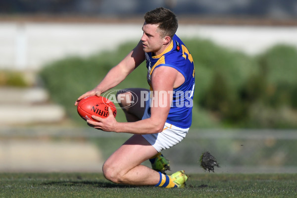
[[[112,167],[118,173],[128,172],[155,154],[157,150],[144,137],[133,135],[105,161],[104,166]]]

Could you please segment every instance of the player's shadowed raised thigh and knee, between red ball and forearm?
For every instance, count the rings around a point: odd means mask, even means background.
[[[146,109],[146,99],[148,99],[148,89],[129,88],[120,90],[117,93],[117,100],[124,111],[142,119]]]

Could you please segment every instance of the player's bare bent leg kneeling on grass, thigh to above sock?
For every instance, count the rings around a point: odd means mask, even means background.
[[[156,149],[141,135],[133,135],[105,161],[103,174],[114,183],[156,185],[159,173],[141,165],[156,153]]]

